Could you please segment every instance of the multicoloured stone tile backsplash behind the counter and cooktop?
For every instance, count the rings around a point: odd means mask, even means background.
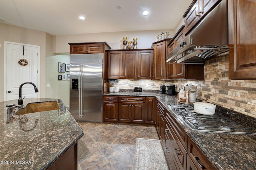
[[[186,84],[198,87],[197,98],[212,104],[256,117],[256,80],[229,80],[228,55],[205,62],[204,80],[123,80],[120,89],[159,90],[160,85],[176,84],[179,88]]]

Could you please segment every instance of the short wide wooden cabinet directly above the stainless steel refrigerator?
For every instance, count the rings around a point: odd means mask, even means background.
[[[95,54],[104,53],[111,49],[106,42],[99,43],[68,43],[70,45],[70,54]]]

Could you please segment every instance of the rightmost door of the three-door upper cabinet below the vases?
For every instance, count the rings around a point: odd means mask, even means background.
[[[153,78],[153,51],[139,51],[138,79]]]

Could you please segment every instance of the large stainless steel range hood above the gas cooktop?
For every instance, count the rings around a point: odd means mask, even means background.
[[[222,0],[205,18],[173,49],[166,62],[202,62],[210,57],[228,54],[228,4]]]

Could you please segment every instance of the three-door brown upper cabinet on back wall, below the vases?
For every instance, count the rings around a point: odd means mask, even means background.
[[[151,79],[152,49],[108,51],[108,78]]]

